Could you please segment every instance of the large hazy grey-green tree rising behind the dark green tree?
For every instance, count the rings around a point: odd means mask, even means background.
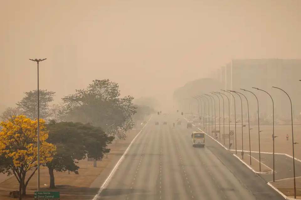
[[[119,86],[108,79],[94,80],[86,89],[62,98],[68,109],[68,121],[91,123],[97,127],[129,127],[124,123],[136,112],[133,97],[120,98]]]

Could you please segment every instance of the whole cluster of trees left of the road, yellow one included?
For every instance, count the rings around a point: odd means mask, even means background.
[[[23,196],[37,171],[38,112],[37,90],[24,94],[15,108],[2,113],[0,129],[0,173],[14,175]],[[54,171],[78,174],[80,160],[101,160],[114,138],[126,138],[134,118],[153,112],[136,107],[131,96],[121,97],[118,84],[108,79],[94,80],[50,105],[54,96],[53,91],[40,90],[40,165],[48,168],[50,188],[55,188]]]

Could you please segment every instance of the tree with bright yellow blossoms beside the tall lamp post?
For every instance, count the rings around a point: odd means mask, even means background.
[[[19,199],[26,194],[29,180],[37,170],[37,120],[19,115],[1,122],[0,172],[13,174],[19,182]],[[40,119],[40,164],[50,162],[55,155],[55,146],[47,143],[48,132],[45,120]],[[25,180],[26,174],[29,177]],[[22,195],[21,195],[22,194]]]

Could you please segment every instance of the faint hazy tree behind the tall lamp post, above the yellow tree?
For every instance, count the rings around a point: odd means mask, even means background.
[[[53,101],[55,92],[40,90],[40,118],[48,119],[49,103]],[[25,97],[17,103],[22,113],[31,119],[38,118],[38,90],[29,91],[25,93]]]

